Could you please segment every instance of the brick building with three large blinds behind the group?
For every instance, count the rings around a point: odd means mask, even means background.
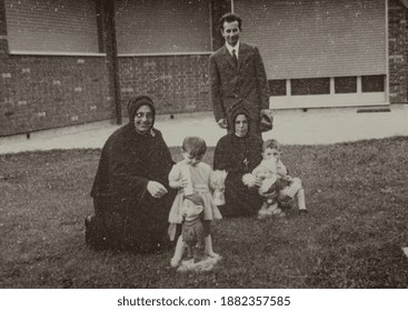
[[[408,102],[400,0],[0,0],[0,136],[112,119],[131,96],[159,113],[210,110],[217,21],[243,18],[272,109]]]

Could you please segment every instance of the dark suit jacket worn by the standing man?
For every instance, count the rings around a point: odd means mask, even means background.
[[[235,108],[243,107],[259,127],[259,111],[269,108],[269,87],[257,47],[240,42],[238,68],[227,47],[220,48],[209,59],[209,79],[217,122],[226,118],[230,121]]]

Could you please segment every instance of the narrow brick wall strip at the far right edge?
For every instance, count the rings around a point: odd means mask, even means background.
[[[389,101],[408,103],[408,10],[398,0],[388,1]]]

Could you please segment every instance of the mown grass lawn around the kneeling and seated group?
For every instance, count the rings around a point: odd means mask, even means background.
[[[223,260],[206,273],[86,247],[100,150],[0,156],[0,288],[407,288],[407,154],[408,137],[285,147],[309,214],[215,222]]]

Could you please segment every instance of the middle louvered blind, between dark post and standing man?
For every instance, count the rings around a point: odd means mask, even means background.
[[[118,53],[211,51],[209,0],[117,0]]]

